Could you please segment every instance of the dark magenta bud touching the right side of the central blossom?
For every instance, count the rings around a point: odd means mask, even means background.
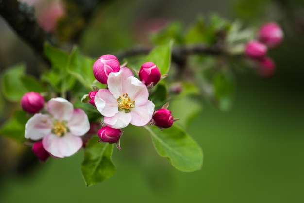
[[[152,122],[156,126],[161,128],[169,128],[173,125],[174,122],[174,118],[171,115],[171,111],[165,108],[154,111],[152,119]]]

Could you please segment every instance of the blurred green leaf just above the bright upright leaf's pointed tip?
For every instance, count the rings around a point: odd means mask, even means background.
[[[167,44],[172,39],[176,44],[183,43],[183,25],[180,22],[171,22],[158,33],[151,35],[151,40],[154,44]]]

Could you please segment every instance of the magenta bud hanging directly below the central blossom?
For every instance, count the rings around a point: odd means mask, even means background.
[[[108,142],[110,144],[117,143],[122,135],[120,129],[114,129],[109,126],[103,126],[97,132],[102,142]]]

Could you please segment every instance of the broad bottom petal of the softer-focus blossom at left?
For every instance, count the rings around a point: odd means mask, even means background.
[[[81,138],[71,133],[66,133],[62,137],[50,133],[42,140],[45,150],[58,158],[75,154],[82,147],[82,144]]]

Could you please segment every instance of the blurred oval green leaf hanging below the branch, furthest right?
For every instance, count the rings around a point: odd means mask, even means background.
[[[235,78],[227,70],[221,69],[212,80],[216,105],[222,111],[227,111],[232,106],[235,92]]]

